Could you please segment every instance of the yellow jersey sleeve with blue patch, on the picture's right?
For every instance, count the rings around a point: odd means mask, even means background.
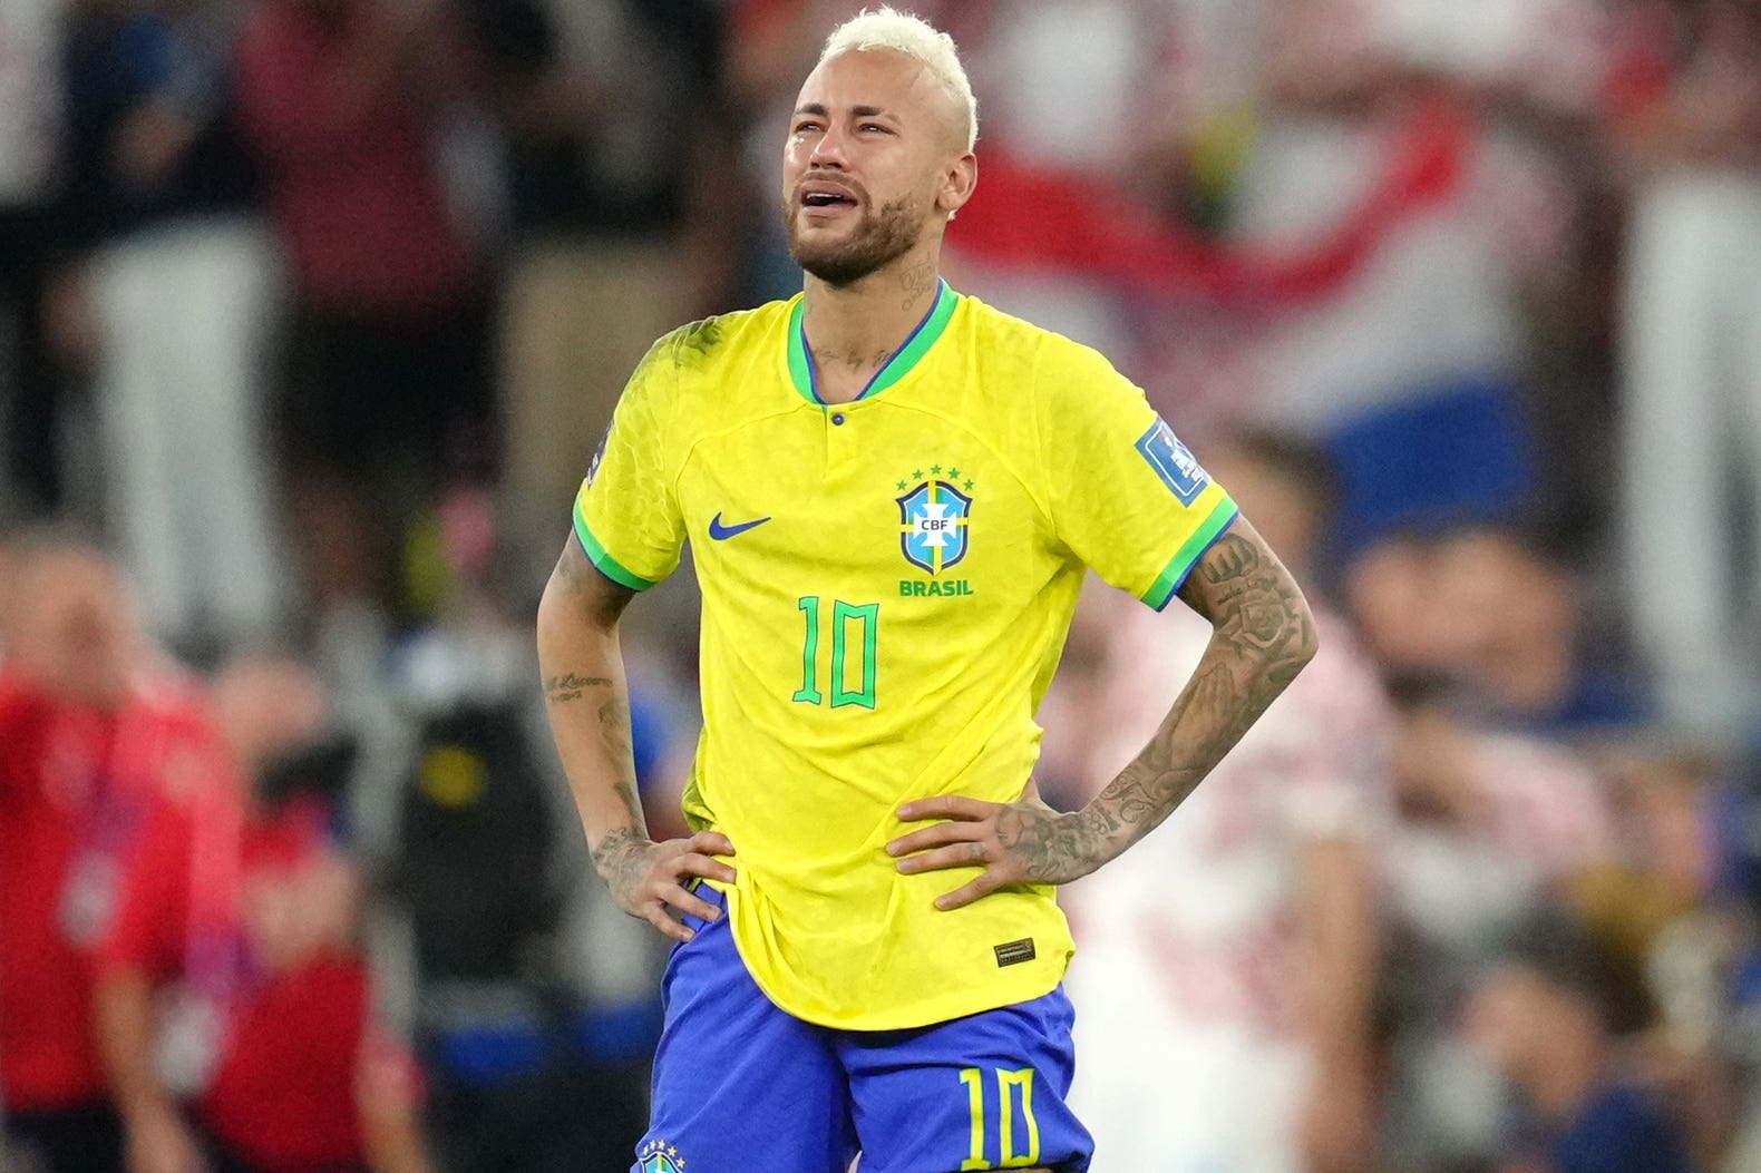
[[[1234,521],[1234,502],[1097,352],[1048,336],[1034,379],[1058,541],[1160,611]]]

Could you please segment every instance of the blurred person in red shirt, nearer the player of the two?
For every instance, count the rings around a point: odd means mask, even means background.
[[[424,1173],[414,1074],[373,1020],[359,877],[335,835],[350,756],[328,749],[294,660],[227,668],[213,705],[227,759],[155,805],[99,956],[130,1173]]]

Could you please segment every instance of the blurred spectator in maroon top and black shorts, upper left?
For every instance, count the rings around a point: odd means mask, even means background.
[[[402,602],[402,542],[493,472],[484,262],[440,167],[465,85],[435,0],[266,0],[239,100],[298,301],[282,440],[319,616]]]

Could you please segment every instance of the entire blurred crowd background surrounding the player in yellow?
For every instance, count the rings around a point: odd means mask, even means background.
[[[530,618],[650,342],[799,289],[856,7],[0,5],[0,1166],[629,1168],[664,942]],[[1324,623],[1065,889],[1095,1168],[1761,1169],[1761,4],[903,7],[979,99],[949,282],[1102,349]],[[625,620],[657,835],[694,606]],[[1053,803],[1173,611],[1085,592]]]

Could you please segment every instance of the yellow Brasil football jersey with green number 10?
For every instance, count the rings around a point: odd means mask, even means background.
[[[1083,567],[1160,608],[1234,516],[1104,358],[947,285],[852,403],[815,393],[799,296],[655,343],[574,527],[632,588],[692,544],[685,814],[734,844],[734,939],[771,1000],[879,1030],[1057,986],[1053,888],[942,912],[976,870],[900,875],[895,808],[1020,798]]]

